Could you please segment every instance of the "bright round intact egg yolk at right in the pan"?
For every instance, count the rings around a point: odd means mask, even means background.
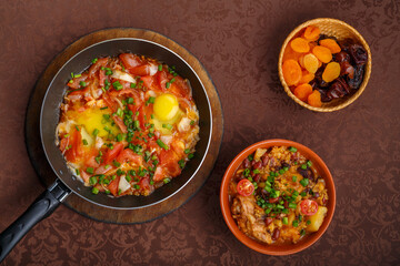
[[[179,111],[178,99],[169,93],[164,93],[156,98],[153,112],[161,121],[173,119]]]

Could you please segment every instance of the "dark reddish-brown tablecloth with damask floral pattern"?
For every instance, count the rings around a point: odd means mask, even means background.
[[[353,25],[370,44],[364,93],[333,113],[313,113],[284,94],[278,54],[286,35],[313,18]],[[146,28],[176,40],[209,71],[224,112],[224,137],[203,188],[150,223],[94,222],[61,206],[37,225],[3,265],[400,265],[400,2],[323,1],[1,1],[0,229],[43,190],[23,142],[36,80],[69,43],[94,30]],[[219,207],[221,177],[234,154],[266,139],[317,152],[337,187],[337,211],[309,249],[286,257],[238,242]]]

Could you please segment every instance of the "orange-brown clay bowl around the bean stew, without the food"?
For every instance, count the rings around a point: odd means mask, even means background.
[[[228,196],[228,187],[229,182],[232,178],[234,172],[240,166],[242,161],[249,156],[251,153],[253,153],[257,149],[263,147],[268,149],[271,146],[293,146],[296,147],[302,155],[304,155],[307,158],[309,158],[312,162],[312,165],[317,167],[321,176],[326,181],[326,187],[329,195],[328,201],[328,213],[327,216],[323,219],[323,223],[318,232],[311,234],[306,239],[300,241],[297,244],[289,244],[289,245],[268,245],[268,244],[261,244],[260,242],[257,242],[249,236],[247,236],[244,233],[242,233],[236,221],[232,217],[231,209],[230,209],[230,203],[229,203],[229,196]],[[298,252],[301,252],[312,244],[314,244],[327,231],[330,222],[332,221],[333,213],[334,213],[334,205],[336,205],[336,191],[334,191],[334,184],[331,173],[329,172],[327,165],[323,163],[323,161],[310,149],[307,146],[303,146],[297,142],[287,141],[287,140],[267,140],[261,141],[256,144],[250,145],[249,147],[244,149],[241,153],[239,153],[233,161],[228,166],[221,184],[221,191],[220,191],[220,204],[221,204],[221,211],[223,218],[229,227],[229,229],[233,233],[233,235],[246,246],[250,247],[251,249],[268,254],[268,255],[289,255],[294,254]]]

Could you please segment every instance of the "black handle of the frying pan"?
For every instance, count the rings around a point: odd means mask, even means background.
[[[17,243],[40,221],[48,217],[71,191],[57,180],[28,209],[0,234],[0,263]]]

